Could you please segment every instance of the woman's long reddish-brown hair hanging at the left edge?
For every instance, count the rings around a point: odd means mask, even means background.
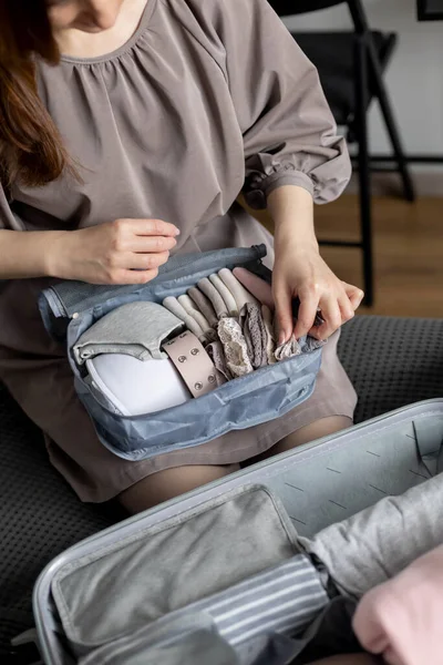
[[[0,181],[41,186],[73,171],[62,137],[39,99],[34,59],[56,64],[44,0],[0,0]]]

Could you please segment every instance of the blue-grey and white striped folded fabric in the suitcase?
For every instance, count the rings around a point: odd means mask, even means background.
[[[298,554],[186,611],[209,614],[220,635],[235,646],[266,633],[302,631],[328,603],[317,570]]]

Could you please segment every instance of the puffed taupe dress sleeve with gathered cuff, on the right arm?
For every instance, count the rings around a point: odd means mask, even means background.
[[[305,187],[316,203],[333,201],[351,164],[316,68],[266,0],[224,0],[223,7],[220,39],[244,136],[248,204],[266,207],[282,185]]]

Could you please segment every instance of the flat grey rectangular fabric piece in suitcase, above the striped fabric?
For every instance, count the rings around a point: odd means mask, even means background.
[[[83,655],[297,553],[279,500],[246,487],[79,557],[56,573],[52,594]]]

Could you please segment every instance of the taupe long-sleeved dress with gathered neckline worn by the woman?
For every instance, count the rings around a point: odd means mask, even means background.
[[[179,252],[271,238],[235,204],[256,207],[299,185],[318,203],[344,188],[350,163],[315,68],[265,0],[147,0],[133,38],[103,58],[39,64],[39,90],[84,184],[0,188],[0,226],[76,229],[157,217],[181,231]],[[64,349],[41,323],[44,279],[0,290],[0,380],[47,434],[53,464],[84,501],[105,501],[155,471],[229,464],[315,419],[352,417],[356,393],[327,345],[315,395],[279,420],[142,462],[97,441]]]

